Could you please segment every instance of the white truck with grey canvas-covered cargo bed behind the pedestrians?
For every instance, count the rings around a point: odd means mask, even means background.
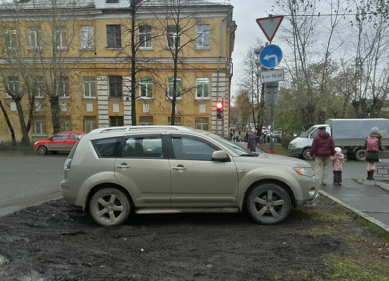
[[[328,119],[326,124],[314,125],[300,137],[292,140],[288,146],[289,152],[309,159],[313,138],[317,136],[318,128],[322,126],[326,127],[326,131],[334,139],[335,146],[342,148],[342,152],[346,153],[348,158],[365,160],[365,140],[374,127],[380,129],[383,135],[382,145],[389,149],[389,119]]]

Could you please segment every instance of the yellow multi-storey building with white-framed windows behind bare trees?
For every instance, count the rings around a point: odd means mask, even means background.
[[[55,99],[61,131],[134,123],[129,6],[129,0],[23,0],[1,6],[0,102],[17,141],[21,111],[12,94],[21,96],[26,123],[32,104],[31,142],[53,133]],[[182,50],[176,125],[227,135],[232,9],[228,0],[152,0],[136,11],[136,125],[171,122],[177,42]],[[224,103],[222,119],[216,117],[217,101]],[[0,142],[10,140],[0,112]]]

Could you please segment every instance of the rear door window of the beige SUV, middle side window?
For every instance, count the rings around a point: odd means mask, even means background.
[[[161,136],[128,138],[124,144],[123,157],[164,158]]]

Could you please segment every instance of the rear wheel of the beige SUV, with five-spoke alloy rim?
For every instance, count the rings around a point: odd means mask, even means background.
[[[114,226],[124,223],[130,215],[131,204],[121,190],[103,188],[97,191],[89,203],[92,218],[102,226]]]

